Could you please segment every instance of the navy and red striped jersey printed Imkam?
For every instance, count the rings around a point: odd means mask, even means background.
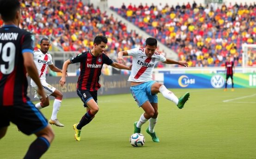
[[[103,53],[95,57],[91,54],[91,50],[79,53],[70,58],[70,62],[80,62],[77,89],[87,91],[97,91],[100,88],[98,81],[103,64],[111,65],[113,63],[106,54]]]

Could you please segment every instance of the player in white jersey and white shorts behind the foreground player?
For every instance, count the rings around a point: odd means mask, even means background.
[[[37,93],[37,85],[35,84],[35,82],[31,80],[30,84],[35,90],[35,98],[40,99],[40,102],[36,104],[36,107],[38,109],[42,109],[44,107],[49,106],[49,96],[55,97],[55,100],[53,102],[52,116],[49,119],[49,124],[63,127],[64,125],[61,124],[57,119],[57,113],[61,107],[61,100],[63,95],[55,87],[49,85],[46,82],[46,78],[45,78],[48,66],[52,71],[62,73],[62,70],[55,67],[55,65],[53,64],[52,56],[49,53],[47,53],[49,50],[49,47],[50,47],[49,39],[43,38],[40,42],[40,49],[34,51],[34,62],[36,63],[38,75],[47,96],[45,102],[41,101],[42,97],[39,96],[39,94]]]

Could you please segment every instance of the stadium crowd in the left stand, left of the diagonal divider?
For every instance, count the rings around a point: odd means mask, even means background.
[[[144,39],[135,31],[127,31],[124,23],[107,16],[93,4],[84,5],[77,0],[22,0],[20,28],[36,35],[54,37],[52,45],[64,51],[86,51],[93,47],[93,38],[108,38],[106,53],[116,57],[122,49],[143,45]],[[0,26],[2,21],[0,21]],[[37,44],[36,48],[39,47]]]

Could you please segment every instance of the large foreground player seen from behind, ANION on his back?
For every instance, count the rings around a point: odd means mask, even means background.
[[[27,97],[26,71],[45,101],[33,62],[34,35],[18,28],[21,18],[18,0],[0,0],[0,14],[5,24],[0,28],[0,139],[5,136],[10,122],[14,123],[24,134],[37,136],[24,159],[39,159],[48,150],[54,133],[47,119]]]

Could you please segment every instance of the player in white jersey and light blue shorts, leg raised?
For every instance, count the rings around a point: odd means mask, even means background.
[[[122,56],[132,56],[132,71],[128,81],[131,81],[132,95],[145,113],[140,116],[139,121],[134,122],[134,133],[140,133],[141,126],[149,120],[149,127],[146,132],[152,137],[153,142],[159,142],[158,136],[154,131],[158,117],[158,97],[157,93],[161,92],[163,96],[174,102],[178,108],[183,108],[185,102],[189,99],[189,92],[179,99],[173,92],[169,91],[165,85],[152,80],[152,72],[157,62],[166,64],[178,64],[188,67],[186,61],[174,61],[166,59],[157,51],[157,40],[154,38],[146,39],[145,48],[134,48],[127,51],[118,52],[118,62],[122,62]]]

